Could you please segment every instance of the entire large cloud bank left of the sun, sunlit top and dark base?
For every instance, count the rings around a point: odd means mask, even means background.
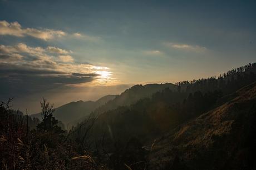
[[[57,48],[57,47],[56,47]],[[73,62],[72,56],[48,54],[49,48],[0,45],[0,92],[13,97],[65,86],[102,82],[107,67]],[[84,86],[84,85],[83,85]],[[8,96],[9,95],[9,96]]]

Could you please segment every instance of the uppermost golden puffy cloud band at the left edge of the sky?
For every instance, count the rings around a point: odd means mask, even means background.
[[[53,29],[22,28],[18,22],[8,23],[7,21],[0,21],[0,35],[17,37],[31,36],[47,41],[56,37],[65,36],[66,33]]]

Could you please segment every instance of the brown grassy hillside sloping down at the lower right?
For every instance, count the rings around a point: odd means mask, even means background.
[[[149,169],[255,169],[256,82],[228,99],[157,139]]]

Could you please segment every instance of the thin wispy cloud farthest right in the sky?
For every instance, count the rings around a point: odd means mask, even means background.
[[[189,44],[178,44],[178,43],[171,43],[171,42],[165,42],[164,46],[174,48],[174,49],[180,49],[185,51],[194,51],[194,52],[204,52],[206,51],[205,47],[201,47],[198,45],[189,45]]]

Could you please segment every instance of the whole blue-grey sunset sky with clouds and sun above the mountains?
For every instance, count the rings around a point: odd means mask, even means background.
[[[40,111],[255,62],[255,1],[0,0],[0,101]]]

